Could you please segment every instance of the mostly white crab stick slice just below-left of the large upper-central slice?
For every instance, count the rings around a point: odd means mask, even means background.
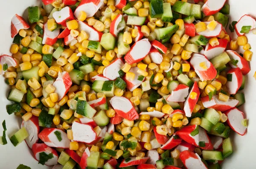
[[[115,80],[120,76],[119,71],[121,70],[124,64],[125,63],[122,58],[116,58],[113,62],[111,62],[110,65],[108,65],[103,70],[103,76],[110,80]]]

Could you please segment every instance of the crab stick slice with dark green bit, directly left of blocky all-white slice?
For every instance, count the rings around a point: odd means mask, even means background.
[[[67,149],[70,146],[70,140],[67,138],[67,133],[57,128],[44,128],[39,133],[38,137],[44,141],[47,146],[63,149]]]

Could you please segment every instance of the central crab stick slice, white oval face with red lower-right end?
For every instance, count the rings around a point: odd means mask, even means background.
[[[131,101],[125,97],[114,96],[111,98],[110,104],[116,113],[122,118],[126,118],[130,121],[139,118],[139,114],[131,104]]]

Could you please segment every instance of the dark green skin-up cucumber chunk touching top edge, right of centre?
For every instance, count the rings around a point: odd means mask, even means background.
[[[152,18],[161,18],[163,14],[163,0],[151,0],[149,14]]]

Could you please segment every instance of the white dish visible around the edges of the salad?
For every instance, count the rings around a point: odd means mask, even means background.
[[[10,25],[11,19],[15,14],[27,16],[28,6],[36,6],[40,4],[41,0],[0,0],[1,6],[1,22],[0,22],[0,54],[10,54],[9,48],[12,44]],[[217,0],[216,0],[217,1]],[[216,2],[217,3],[217,2]],[[256,1],[254,0],[230,0],[230,22],[238,21],[244,14],[251,14],[256,17]],[[227,27],[227,31],[228,27]],[[252,51],[256,53],[256,35],[246,35],[252,47]],[[242,50],[241,50],[242,51]],[[234,153],[229,158],[225,159],[222,164],[223,169],[254,169],[255,152],[256,152],[256,81],[253,74],[256,71],[256,56],[253,56],[250,62],[251,71],[247,75],[246,88],[244,90],[246,103],[239,109],[244,111],[246,118],[249,119],[248,132],[244,136],[238,134],[231,134]],[[3,76],[0,76],[0,107],[2,109],[0,115],[0,124],[5,119],[7,127],[7,136],[10,137],[17,130],[20,129],[21,120],[15,115],[8,115],[6,112],[6,105],[11,102],[6,99],[8,88],[4,83]],[[2,135],[3,127],[0,126],[0,135]],[[14,147],[7,138],[7,145],[0,145],[0,168],[16,169],[19,164],[30,166],[32,169],[50,169],[51,167],[42,166],[32,157],[32,152],[26,146],[25,141]]]

